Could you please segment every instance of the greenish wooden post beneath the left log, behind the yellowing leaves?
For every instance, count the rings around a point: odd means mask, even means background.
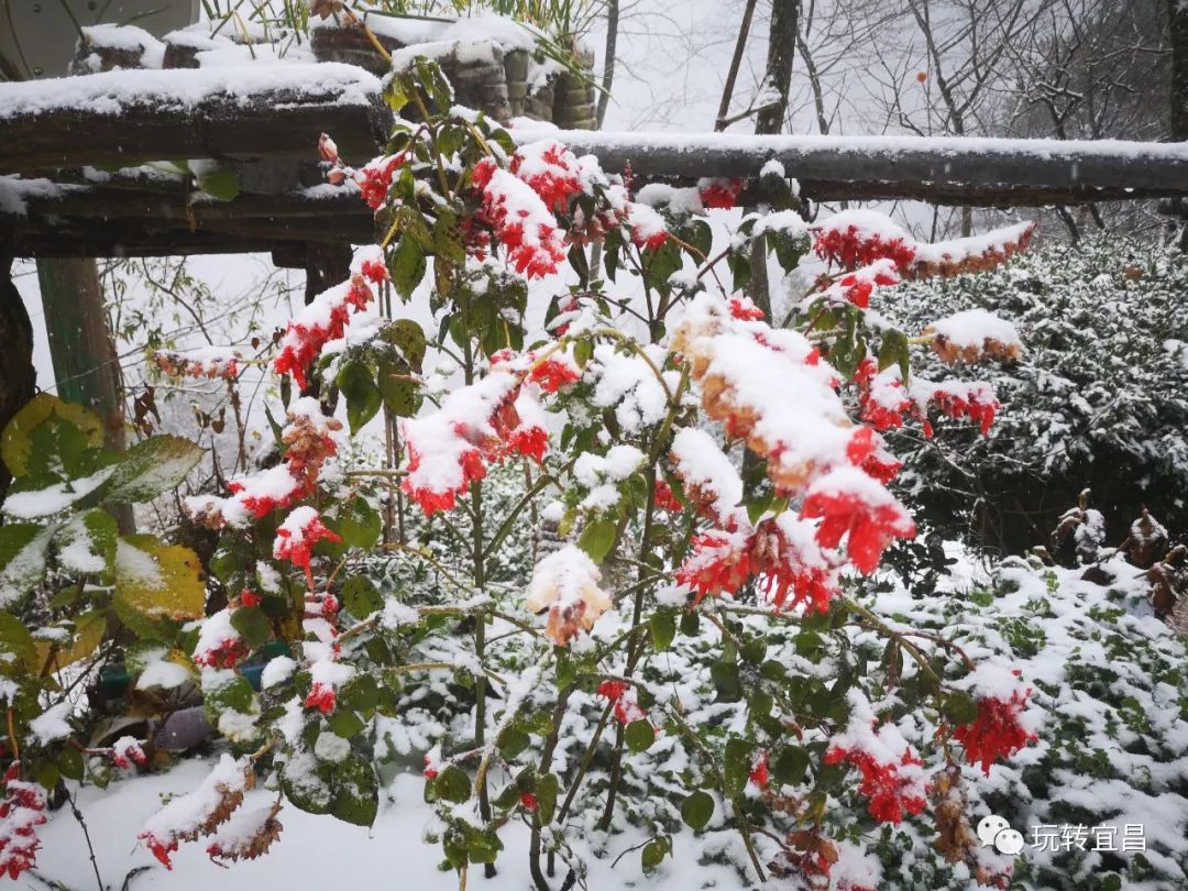
[[[124,397],[115,345],[107,330],[99,268],[91,258],[40,258],[37,280],[42,286],[45,330],[58,397],[91,409],[103,421],[112,451],[124,451]],[[132,510],[118,507],[113,516],[121,532],[133,532]]]

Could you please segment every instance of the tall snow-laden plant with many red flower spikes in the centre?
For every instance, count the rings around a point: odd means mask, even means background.
[[[244,805],[261,781],[296,808],[371,824],[375,762],[416,745],[432,835],[463,883],[470,865],[493,868],[513,820],[529,828],[537,887],[557,858],[580,878],[571,815],[593,795],[604,833],[642,815],[649,870],[674,853],[675,814],[694,830],[725,821],[748,880],[878,885],[861,830],[924,819],[930,782],[952,785],[962,762],[993,772],[1036,737],[1030,678],[852,595],[916,532],[887,489],[901,462],[880,431],[930,430],[940,417],[985,431],[999,409],[988,384],[914,374],[912,347],[953,361],[1022,352],[1013,327],[985,312],[890,327],[885,289],[992,266],[1026,246],[1030,227],[927,245],[867,213],[809,225],[791,184],[769,172],[785,207],[742,217],[715,245],[702,215],[728,207],[737,183],[637,194],[630,176],[555,139],[517,146],[455,107],[425,59],[393,71],[386,99],[407,116],[385,156],[353,169],[321,141],[328,178],[354,183],[375,211],[378,245],[279,337],[272,369],[302,391],[274,422],[279,462],[183,503],[217,533],[208,569],[226,604],[179,625],[194,617],[166,606],[169,549],[138,538],[113,536],[109,561],[74,567],[76,579],[91,574],[78,601],[156,646],[153,658],[140,651],[144,665],[169,661],[196,680],[232,750],[140,838],[166,866],[198,839],[219,858],[264,853],[278,809]],[[739,291],[756,249],[788,271],[810,251],[828,264],[791,327]],[[612,291],[604,273],[623,284]],[[360,324],[386,287],[404,301],[428,295],[436,334],[412,318]],[[352,435],[381,407],[403,418],[388,431],[398,469],[342,472],[342,425],[326,407],[336,394]],[[38,447],[39,460],[72,461],[71,442]],[[178,472],[190,466],[182,451],[169,465]],[[513,465],[523,497],[492,533],[485,482]],[[32,542],[61,539],[53,552],[72,558],[84,536],[64,512],[75,493],[125,480],[120,467],[87,463],[10,495],[10,514],[57,525],[5,526],[5,541],[26,541],[2,552],[4,577],[40,571],[46,545],[31,554]],[[393,479],[440,523],[448,556],[381,542]],[[126,485],[150,494],[139,476]],[[560,541],[523,584],[497,583],[508,535],[538,506]],[[373,583],[387,555],[421,561],[431,590]],[[159,596],[147,615],[121,607],[121,573]],[[855,652],[858,631],[880,639],[878,664]],[[652,680],[678,634],[706,647],[709,688]],[[274,642],[290,655],[255,689],[246,662]],[[44,685],[45,671],[30,671],[21,683]],[[13,754],[19,741],[23,765],[26,752],[67,757],[69,706],[38,716],[42,690],[30,689],[10,725]],[[708,696],[734,720],[715,726]],[[448,726],[426,718],[447,699],[465,703],[442,713]],[[901,728],[905,716],[935,727],[927,751]],[[639,798],[631,776],[653,752],[678,753],[682,766],[663,796]],[[956,800],[943,820],[968,828]],[[984,884],[1007,881],[1010,859],[969,833],[954,838],[950,861]]]

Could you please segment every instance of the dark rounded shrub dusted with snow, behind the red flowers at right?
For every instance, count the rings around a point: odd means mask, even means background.
[[[1089,488],[1113,544],[1143,506],[1188,529],[1186,290],[1180,251],[1120,238],[1045,244],[984,274],[896,289],[883,309],[908,329],[979,307],[1026,343],[1016,364],[978,369],[1005,406],[985,437],[896,438],[927,519],[1018,552]]]

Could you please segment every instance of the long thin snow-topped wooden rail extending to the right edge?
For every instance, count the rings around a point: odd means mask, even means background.
[[[1043,206],[1188,195],[1188,144],[950,137],[751,137],[520,128],[605,170],[695,181],[758,176],[778,162],[817,201],[910,198]]]

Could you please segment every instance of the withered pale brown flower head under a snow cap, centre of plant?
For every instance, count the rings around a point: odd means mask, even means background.
[[[533,613],[548,611],[544,634],[565,646],[581,630],[589,631],[611,608],[611,598],[599,587],[601,573],[586,551],[567,544],[532,570],[525,606]]]

